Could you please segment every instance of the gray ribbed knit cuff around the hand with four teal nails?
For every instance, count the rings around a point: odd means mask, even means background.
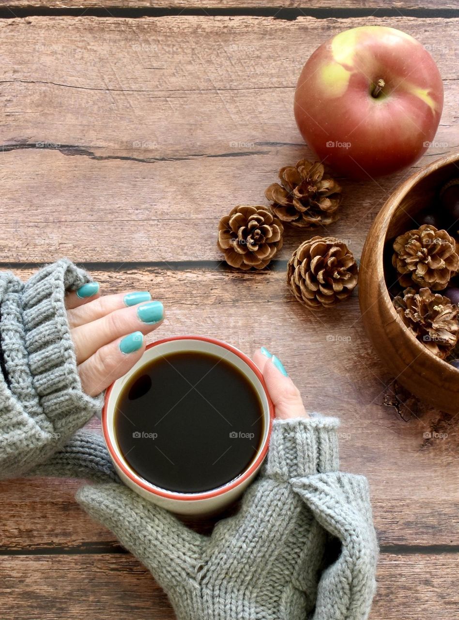
[[[90,280],[67,259],[27,283],[0,273],[0,478],[46,461],[102,406],[82,391],[64,304]]]

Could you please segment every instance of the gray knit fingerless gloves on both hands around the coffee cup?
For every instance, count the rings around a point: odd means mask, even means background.
[[[211,536],[120,484],[100,436],[74,434],[100,407],[81,391],[63,303],[85,281],[68,261],[26,285],[1,277],[0,477],[95,480],[77,500],[151,570],[178,620],[366,619],[377,542],[367,481],[338,472],[336,418],[274,422],[260,476]]]

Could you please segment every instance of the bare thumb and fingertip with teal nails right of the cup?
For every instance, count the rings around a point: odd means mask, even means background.
[[[274,404],[276,418],[279,420],[308,418],[300,391],[287,375],[281,360],[269,353],[268,349],[261,347],[255,352],[253,361],[263,374],[269,396]]]

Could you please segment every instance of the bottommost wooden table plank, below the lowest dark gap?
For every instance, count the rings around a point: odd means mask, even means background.
[[[8,618],[175,618],[165,594],[129,554],[0,557],[0,577]],[[425,618],[426,609],[435,620],[452,620],[459,606],[458,578],[456,554],[383,554],[370,620],[400,620],[402,609],[405,620]]]

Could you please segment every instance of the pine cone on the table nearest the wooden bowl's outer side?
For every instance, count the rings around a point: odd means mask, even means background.
[[[308,308],[346,299],[357,284],[358,267],[346,244],[334,237],[312,237],[292,254],[287,284]]]

